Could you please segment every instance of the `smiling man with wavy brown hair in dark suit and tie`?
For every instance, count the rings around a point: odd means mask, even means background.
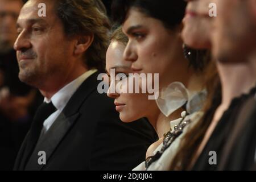
[[[122,123],[97,90],[108,46],[101,1],[30,0],[14,44],[19,78],[43,94],[15,170],[129,170],[156,140],[141,119]]]

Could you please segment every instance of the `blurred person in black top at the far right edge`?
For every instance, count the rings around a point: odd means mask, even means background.
[[[193,169],[251,170],[256,166],[256,1],[212,2],[217,5],[212,53],[221,79],[222,101]],[[204,161],[209,151],[216,151],[217,165]]]

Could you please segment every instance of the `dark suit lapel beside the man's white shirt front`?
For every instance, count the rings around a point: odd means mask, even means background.
[[[100,74],[100,72],[96,72],[87,78],[79,89],[77,89],[75,94],[73,94],[67,106],[65,106],[64,110],[61,112],[59,117],[57,117],[51,128],[42,138],[39,139],[34,152],[28,160],[26,169],[40,170],[44,167],[44,165],[38,164],[39,151],[45,151],[46,160],[47,162],[49,161],[58,144],[79,117],[79,109],[81,105],[85,102],[86,98],[90,96],[90,93],[97,89],[98,83],[100,83],[100,81],[97,81],[98,74]],[[27,154],[24,155],[24,157],[26,156]]]

